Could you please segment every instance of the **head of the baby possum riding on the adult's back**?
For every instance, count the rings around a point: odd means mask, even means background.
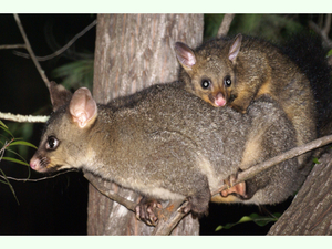
[[[194,93],[215,107],[229,104],[236,96],[231,89],[236,82],[235,66],[240,52],[242,35],[229,44],[215,41],[196,50],[176,42],[175,53],[181,65],[180,77],[188,92]]]

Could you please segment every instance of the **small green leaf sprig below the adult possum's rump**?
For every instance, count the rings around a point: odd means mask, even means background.
[[[216,228],[216,231],[219,231],[221,229],[229,229],[236,225],[253,221],[256,225],[263,227],[269,222],[276,222],[278,218],[281,216],[280,212],[274,212],[272,216],[260,216],[256,212],[252,212],[250,216],[243,216],[239,221],[235,224],[226,224],[225,226],[218,226]]]

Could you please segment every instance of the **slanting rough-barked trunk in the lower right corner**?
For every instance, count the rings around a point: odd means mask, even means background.
[[[332,152],[319,162],[269,235],[332,235]]]

